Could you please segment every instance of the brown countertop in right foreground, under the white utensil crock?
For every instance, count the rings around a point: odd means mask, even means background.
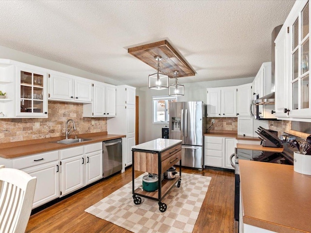
[[[311,176],[291,165],[239,165],[243,223],[278,233],[311,232]]]

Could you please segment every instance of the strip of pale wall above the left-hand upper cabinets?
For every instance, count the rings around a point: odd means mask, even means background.
[[[37,67],[52,69],[55,71],[66,73],[66,74],[76,75],[76,76],[83,77],[86,79],[91,79],[91,80],[109,83],[113,85],[126,84],[126,83],[122,83],[122,82],[119,82],[119,81],[116,81],[116,80],[113,80],[113,79],[110,79],[110,78],[107,78],[107,77],[104,77],[98,74],[87,72],[82,69],[66,66],[64,64],[53,62],[53,61],[50,61],[50,60],[47,60],[41,57],[37,57],[37,56],[31,55],[25,52],[12,50],[12,49],[9,49],[3,46],[0,46],[0,58],[23,62],[23,63],[34,65]]]

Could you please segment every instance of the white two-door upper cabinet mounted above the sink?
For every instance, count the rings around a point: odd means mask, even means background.
[[[91,80],[66,74],[49,75],[49,100],[66,102],[91,102]]]

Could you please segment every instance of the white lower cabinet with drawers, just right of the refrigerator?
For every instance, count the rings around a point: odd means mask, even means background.
[[[204,137],[204,165],[234,169],[230,163],[230,155],[236,147],[235,138],[217,136]]]

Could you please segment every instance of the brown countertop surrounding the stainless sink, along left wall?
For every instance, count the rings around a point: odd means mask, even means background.
[[[64,137],[50,137],[50,138],[34,139],[19,142],[0,143],[0,157],[5,159],[12,159],[20,156],[46,152],[50,150],[60,150],[69,147],[77,147],[81,145],[102,142],[121,137],[125,137],[125,135],[107,134],[107,132],[101,132],[101,133],[79,134],[78,138],[87,138],[91,140],[73,143],[69,145],[53,143],[55,141],[64,139]]]

